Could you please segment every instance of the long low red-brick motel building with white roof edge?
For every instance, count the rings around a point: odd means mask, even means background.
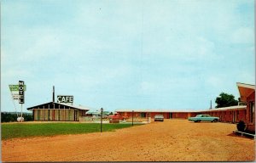
[[[127,117],[127,121],[151,121],[154,115],[164,115],[165,119],[188,119],[200,114],[218,116],[219,121],[238,123],[244,121],[247,131],[255,132],[255,85],[237,82],[241,101],[237,106],[230,106],[211,110],[150,110],[150,109],[119,109],[120,115]]]

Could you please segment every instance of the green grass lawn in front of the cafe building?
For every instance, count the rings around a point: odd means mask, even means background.
[[[131,124],[103,124],[102,132],[129,127]],[[2,140],[38,136],[66,135],[77,133],[101,132],[99,123],[35,123],[1,124]]]

